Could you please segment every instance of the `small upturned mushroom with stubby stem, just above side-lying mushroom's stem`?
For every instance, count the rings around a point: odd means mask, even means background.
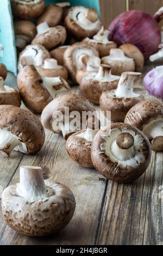
[[[43,65],[39,66],[41,76],[56,77],[61,76],[67,80],[68,72],[65,66],[60,66],[56,59],[45,59]]]

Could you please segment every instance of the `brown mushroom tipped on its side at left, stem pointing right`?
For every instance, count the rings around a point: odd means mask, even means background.
[[[24,66],[18,73],[17,87],[24,104],[34,113],[41,113],[53,97],[70,89],[61,77],[42,77],[34,65]]]

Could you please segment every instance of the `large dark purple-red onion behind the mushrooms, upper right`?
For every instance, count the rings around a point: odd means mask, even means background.
[[[151,15],[139,10],[126,11],[116,17],[109,27],[109,40],[122,44],[133,44],[143,53],[145,60],[158,52],[161,30]]]

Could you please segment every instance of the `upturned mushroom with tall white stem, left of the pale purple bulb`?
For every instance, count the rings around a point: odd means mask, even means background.
[[[101,95],[100,107],[105,113],[111,111],[112,122],[123,122],[129,109],[145,99],[140,94],[133,92],[134,86],[142,83],[141,78],[139,72],[123,72],[117,89],[104,92]]]

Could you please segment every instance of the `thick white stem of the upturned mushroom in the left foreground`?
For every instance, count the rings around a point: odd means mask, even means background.
[[[41,167],[21,166],[20,184],[17,193],[28,202],[47,199],[47,188],[41,173]]]

